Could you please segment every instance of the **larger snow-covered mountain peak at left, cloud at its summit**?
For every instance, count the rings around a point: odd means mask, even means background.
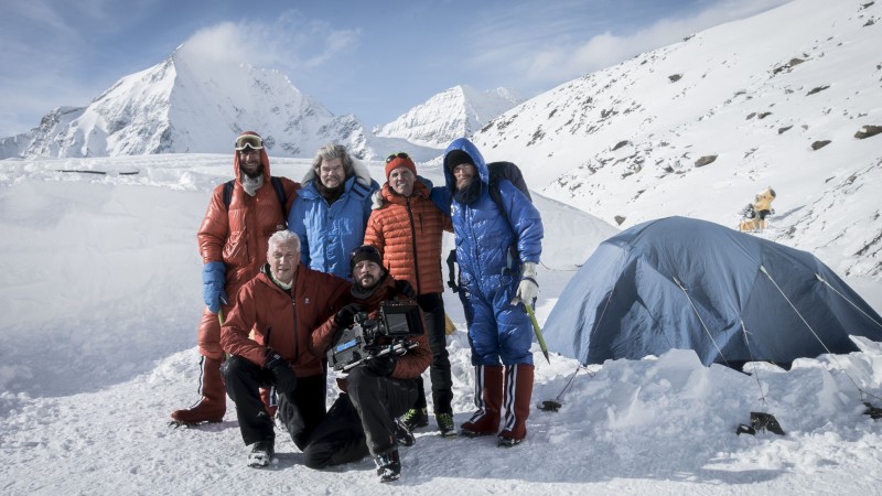
[[[353,116],[335,117],[273,69],[209,60],[181,45],[120,78],[87,107],[50,112],[30,133],[0,141],[2,157],[105,157],[227,152],[243,130],[275,155],[311,157],[329,141],[365,154]]]

